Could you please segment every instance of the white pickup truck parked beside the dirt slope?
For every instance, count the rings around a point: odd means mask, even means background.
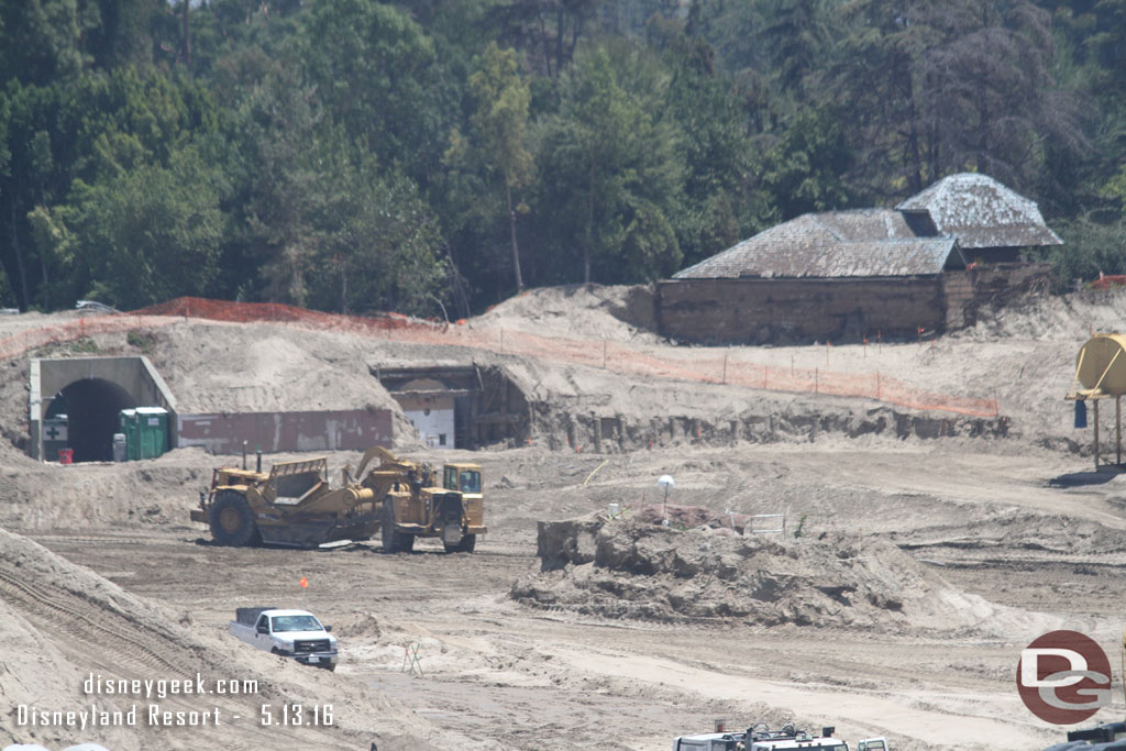
[[[337,637],[307,610],[238,608],[229,631],[259,650],[293,658],[306,665],[337,669]]]

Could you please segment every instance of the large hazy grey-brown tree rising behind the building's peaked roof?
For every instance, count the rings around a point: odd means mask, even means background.
[[[1029,0],[856,0],[820,90],[849,113],[854,179],[876,198],[981,170],[1021,189],[1044,144],[1078,152],[1048,18]]]

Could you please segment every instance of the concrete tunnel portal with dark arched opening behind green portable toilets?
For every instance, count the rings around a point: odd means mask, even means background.
[[[33,358],[29,387],[30,454],[39,461],[56,458],[44,456],[43,420],[59,411],[53,411],[53,403],[60,397],[66,404],[75,462],[113,461],[122,410],[162,406],[169,411],[170,424],[177,414],[171,391],[143,356]],[[176,446],[175,431],[168,441]]]

